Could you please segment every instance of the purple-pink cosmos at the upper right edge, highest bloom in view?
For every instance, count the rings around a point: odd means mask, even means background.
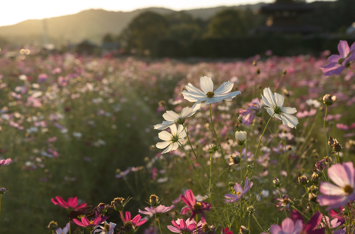
[[[349,66],[350,62],[355,59],[355,42],[349,48],[346,40],[340,40],[338,51],[340,55],[332,54],[328,58],[329,63],[321,67],[324,76],[340,75],[345,67]]]

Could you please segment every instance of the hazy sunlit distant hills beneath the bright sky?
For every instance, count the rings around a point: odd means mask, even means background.
[[[262,5],[264,3],[232,7],[242,10],[249,7],[251,10],[258,10]],[[193,17],[207,20],[216,12],[225,8],[228,7],[193,9],[184,12],[191,14]],[[13,45],[50,42],[59,46],[65,41],[65,38],[70,38],[69,43],[78,43],[84,39],[88,39],[93,43],[100,44],[105,34],[120,33],[134,17],[144,11],[153,11],[161,15],[176,12],[157,7],[138,9],[131,12],[91,9],[73,15],[46,18],[43,20],[26,20],[16,25],[2,26],[0,27],[0,37],[11,42]]]

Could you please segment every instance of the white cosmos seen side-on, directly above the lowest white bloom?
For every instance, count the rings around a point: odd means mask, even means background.
[[[154,125],[154,129],[163,130],[173,124],[184,124],[185,120],[196,113],[198,109],[201,107],[201,102],[197,101],[193,104],[192,108],[185,107],[181,110],[180,114],[177,114],[175,111],[168,110],[163,114],[163,118],[166,121],[163,121],[161,124]]]

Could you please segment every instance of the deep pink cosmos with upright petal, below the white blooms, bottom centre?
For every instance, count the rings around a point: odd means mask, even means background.
[[[187,207],[182,208],[180,214],[186,214],[187,211],[192,211],[190,219],[193,219],[193,218],[195,218],[196,214],[200,213],[201,214],[201,221],[203,223],[206,223],[206,218],[204,216],[203,211],[210,211],[211,204],[207,203],[207,202],[196,201],[195,196],[193,196],[191,189],[189,189],[185,192],[185,196],[181,195],[180,197],[181,197],[182,201],[185,202]]]

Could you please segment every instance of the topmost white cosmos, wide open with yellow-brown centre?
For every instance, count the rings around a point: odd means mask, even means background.
[[[203,76],[200,78],[200,87],[202,91],[191,83],[188,83],[185,87],[187,91],[182,91],[184,98],[190,102],[206,101],[205,105],[220,102],[222,100],[231,101],[235,96],[240,94],[240,91],[229,93],[233,88],[232,82],[224,82],[216,91],[213,92],[213,82],[210,77]]]

